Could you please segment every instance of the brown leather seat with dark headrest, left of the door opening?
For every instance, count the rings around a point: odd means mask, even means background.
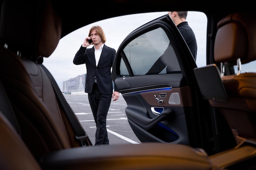
[[[60,37],[61,20],[50,0],[3,2],[0,79],[16,114],[20,135],[36,159],[54,150],[81,146],[40,65],[43,57],[55,50]]]

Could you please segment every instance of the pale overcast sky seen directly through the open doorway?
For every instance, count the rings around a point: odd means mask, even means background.
[[[79,50],[89,30],[94,25],[103,28],[106,35],[106,45],[115,48],[117,51],[125,37],[139,26],[157,18],[166,15],[166,12],[143,13],[120,16],[95,22],[84,26],[69,35],[63,37],[49,58],[44,58],[43,64],[52,73],[56,82],[62,90],[62,82],[78,75],[86,73],[85,64],[74,65],[74,56]],[[86,20],[86,19],[85,19]],[[198,67],[206,65],[206,28],[207,17],[201,12],[188,12],[186,18],[189,26],[193,29],[198,44],[198,54],[196,63]]]

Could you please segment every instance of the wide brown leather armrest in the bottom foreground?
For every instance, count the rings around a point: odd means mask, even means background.
[[[70,148],[50,153],[40,163],[47,170],[211,169],[208,157],[199,150],[163,143]]]

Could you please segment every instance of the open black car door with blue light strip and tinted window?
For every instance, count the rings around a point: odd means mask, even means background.
[[[195,67],[168,15],[137,28],[121,43],[112,80],[126,100],[128,122],[141,142],[209,143],[210,115],[202,114],[209,105],[196,85]]]

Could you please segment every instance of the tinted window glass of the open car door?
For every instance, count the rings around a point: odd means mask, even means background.
[[[162,28],[147,32],[131,41],[124,48],[124,54],[134,75],[167,74],[170,71],[180,71],[176,54]],[[167,66],[167,64],[170,65]],[[128,75],[123,59],[120,73]]]

